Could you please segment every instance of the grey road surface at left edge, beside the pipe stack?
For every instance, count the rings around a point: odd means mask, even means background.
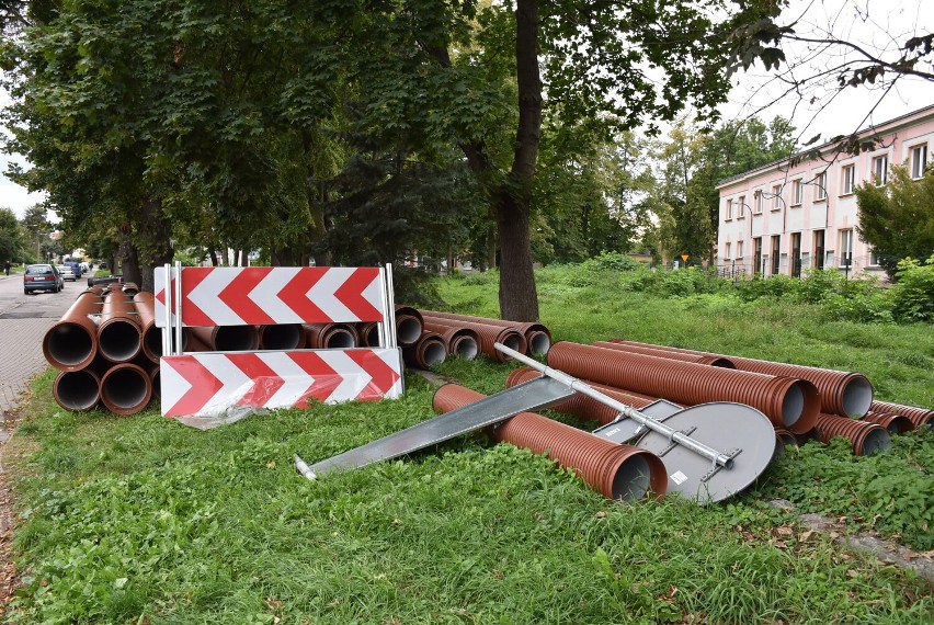
[[[23,294],[23,274],[0,272],[0,421],[25,399],[30,380],[48,364],[42,354],[45,332],[88,287],[88,274],[66,282],[61,293]]]

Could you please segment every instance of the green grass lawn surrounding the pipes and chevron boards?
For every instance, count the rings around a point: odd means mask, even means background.
[[[539,273],[558,340],[626,337],[853,368],[886,399],[932,404],[930,326],[825,322],[725,293],[660,297],[614,275],[572,275],[573,286],[569,271]],[[438,288],[454,308],[490,315],[493,279]],[[489,394],[510,368],[482,359],[438,373]],[[157,409],[61,411],[53,378],[35,383],[4,455],[22,516],[14,622],[901,624],[934,611],[923,580],[766,503],[788,499],[931,549],[930,432],[869,458],[840,443],[790,451],[749,492],[709,508],[627,505],[479,434],[317,482],[297,476],[296,451],[317,462],[430,418],[432,388],[413,375],[399,400],[207,432]]]

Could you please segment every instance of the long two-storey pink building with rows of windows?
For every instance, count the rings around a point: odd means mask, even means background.
[[[884,276],[856,232],[854,189],[885,184],[889,168],[923,175],[934,149],[934,105],[859,132],[874,147],[858,155],[820,146],[822,159],[785,159],[722,181],[717,264],[727,272],[800,276],[807,268],[839,268]]]

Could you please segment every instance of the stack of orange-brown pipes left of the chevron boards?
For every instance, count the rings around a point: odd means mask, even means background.
[[[43,354],[59,371],[53,395],[66,410],[103,402],[117,414],[135,414],[149,404],[158,356],[144,350],[143,337],[155,310],[151,299],[137,303],[136,295],[133,285],[88,288],[43,337]]]

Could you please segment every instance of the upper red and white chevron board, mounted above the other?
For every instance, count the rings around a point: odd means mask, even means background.
[[[166,273],[156,271],[160,328],[167,326]],[[182,326],[385,321],[379,268],[189,266],[181,275]],[[174,309],[171,325],[176,325]]]

